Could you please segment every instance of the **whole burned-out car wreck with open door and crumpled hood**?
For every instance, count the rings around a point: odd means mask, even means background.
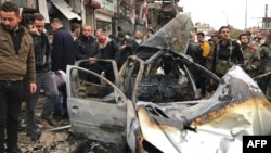
[[[222,78],[194,63],[184,52],[192,22],[180,13],[146,40],[118,72],[115,82],[103,75],[67,67],[72,131],[88,139],[141,152],[242,152],[245,135],[271,135],[271,103],[240,66]],[[78,61],[87,62],[87,61]],[[157,73],[164,67],[164,74]],[[218,87],[197,99],[193,69]],[[98,80],[80,77],[86,73]]]

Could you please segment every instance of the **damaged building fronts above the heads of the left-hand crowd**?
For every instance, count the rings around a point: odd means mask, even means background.
[[[1,3],[8,0],[0,0]],[[179,0],[9,0],[22,8],[23,24],[27,16],[39,12],[50,20],[60,18],[67,29],[70,23],[88,24],[102,28],[106,35],[125,33],[132,36],[136,30],[159,29],[182,12]],[[131,28],[132,27],[132,28]]]

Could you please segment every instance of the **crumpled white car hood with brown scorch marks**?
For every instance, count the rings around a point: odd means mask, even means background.
[[[271,103],[240,66],[208,100],[137,107],[142,137],[162,152],[235,153],[244,135],[271,135]]]

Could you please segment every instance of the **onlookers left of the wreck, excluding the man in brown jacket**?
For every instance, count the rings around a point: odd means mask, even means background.
[[[56,86],[53,85],[55,77],[62,77],[60,75],[66,72],[67,65],[87,60],[88,62],[82,62],[79,66],[98,74],[103,73],[108,80],[114,82],[115,76],[112,64],[99,62],[99,59],[114,60],[117,67],[120,68],[129,55],[137,53],[137,49],[144,39],[139,30],[134,33],[133,39],[121,31],[115,38],[107,36],[101,28],[93,29],[91,25],[73,23],[72,28],[66,29],[59,18],[53,18],[50,24],[51,31],[46,33],[48,30],[44,29],[43,16],[34,13],[30,16],[28,28],[34,38],[37,91],[42,90],[47,97],[41,117],[52,126],[57,126],[54,115],[68,117],[68,112],[66,85],[57,86],[57,82]],[[152,34],[154,31],[149,29],[146,38],[151,37]],[[100,82],[100,79],[88,74],[79,74],[79,76],[83,80]],[[28,82],[28,79],[25,78],[24,81]],[[25,91],[29,90],[26,89]],[[62,93],[61,97],[59,93]],[[36,127],[34,116],[39,92],[31,94],[25,92],[24,95],[26,100],[27,135],[33,140],[37,140],[40,131]]]

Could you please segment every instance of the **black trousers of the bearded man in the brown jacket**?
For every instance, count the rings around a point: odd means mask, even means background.
[[[0,153],[4,152],[5,130],[8,148],[17,145],[22,98],[22,80],[0,80]]]

